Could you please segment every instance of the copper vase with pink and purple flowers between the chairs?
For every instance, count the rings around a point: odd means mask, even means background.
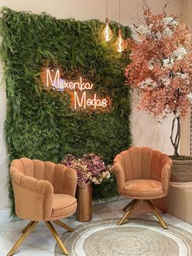
[[[68,154],[62,161],[64,166],[73,168],[77,174],[77,220],[92,219],[92,183],[98,185],[110,178],[111,166],[106,166],[102,157],[94,153],[76,158]]]

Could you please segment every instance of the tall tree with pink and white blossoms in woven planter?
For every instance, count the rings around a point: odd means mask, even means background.
[[[139,108],[159,117],[159,121],[172,114],[172,181],[192,181],[192,158],[178,153],[181,118],[186,117],[192,98],[192,38],[190,28],[179,23],[177,15],[167,16],[165,10],[166,6],[163,13],[153,15],[144,6],[143,22],[134,25],[138,40],[126,42],[132,61],[125,69],[125,77],[128,85],[141,93]],[[182,166],[178,167],[178,163]],[[176,173],[184,167],[184,175]]]

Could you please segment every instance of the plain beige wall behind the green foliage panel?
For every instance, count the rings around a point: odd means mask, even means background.
[[[167,0],[148,0],[152,11],[162,10]],[[170,0],[168,13],[181,14],[182,0]],[[71,18],[76,20],[106,18],[106,3],[103,0],[1,0],[0,7],[10,7],[16,11],[26,10],[39,13],[46,11],[58,18]],[[142,17],[142,0],[121,0],[121,21],[122,24],[130,25],[136,22],[137,15]],[[108,0],[108,15],[111,20],[118,20],[118,0]],[[2,68],[1,68],[2,71]],[[1,73],[1,72],[0,72]],[[1,77],[0,77],[1,81]],[[0,87],[0,210],[8,207],[7,199],[7,153],[3,132],[3,122],[6,117],[6,95],[5,86]],[[159,125],[157,120],[144,112],[135,110],[137,95],[133,98],[132,131],[133,144],[140,146],[150,146],[171,153],[172,148],[169,143],[170,120]]]

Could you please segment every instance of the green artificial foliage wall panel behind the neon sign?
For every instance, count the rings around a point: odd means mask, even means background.
[[[116,37],[104,42],[103,28],[98,20],[56,20],[46,13],[2,9],[10,161],[30,157],[60,162],[68,153],[94,152],[111,164],[117,153],[130,146],[129,88],[124,86],[129,51],[116,51]],[[118,24],[112,22],[111,28],[117,36]],[[131,37],[128,27],[122,27],[122,33]],[[77,72],[94,82],[98,93],[111,97],[111,112],[72,111],[66,93],[43,90],[40,74],[46,63],[61,66],[68,76]],[[115,195],[115,179],[94,187],[96,199]],[[10,197],[13,201],[12,192]]]

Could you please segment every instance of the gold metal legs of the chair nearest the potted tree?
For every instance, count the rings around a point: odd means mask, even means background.
[[[168,229],[168,226],[164,223],[163,218],[160,216],[159,212],[155,209],[158,208],[159,209],[159,205],[155,205],[153,201],[151,200],[136,200],[133,199],[133,201],[130,201],[128,205],[124,206],[123,210],[127,210],[127,212],[124,214],[124,216],[120,219],[119,223],[117,223],[118,226],[120,226],[121,224],[123,224],[125,222],[126,219],[129,219],[130,214],[133,212],[133,210],[135,209],[135,207],[137,206],[137,204],[140,201],[145,201],[146,204],[150,207],[150,209],[152,210],[152,212],[155,214],[156,218],[159,221],[159,224],[161,225],[161,227],[164,227],[164,229]],[[160,209],[161,210],[161,209]],[[163,210],[162,210],[163,211]],[[163,211],[164,212],[164,211]]]

